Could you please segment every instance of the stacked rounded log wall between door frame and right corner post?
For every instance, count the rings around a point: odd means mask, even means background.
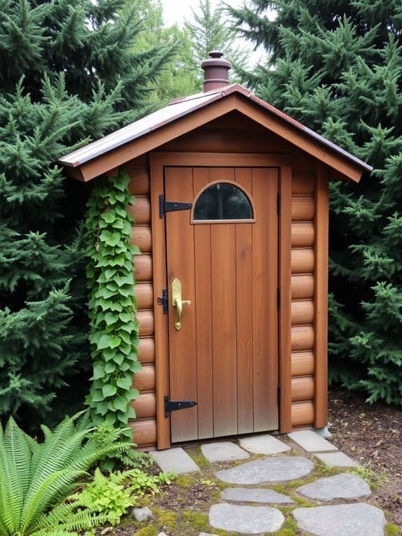
[[[297,164],[296,164],[297,165]],[[305,164],[308,167],[308,162]],[[303,164],[299,167],[304,167]],[[315,173],[292,174],[292,428],[314,420]]]

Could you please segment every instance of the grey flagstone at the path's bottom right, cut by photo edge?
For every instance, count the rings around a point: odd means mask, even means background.
[[[364,502],[296,508],[293,515],[301,530],[315,536],[384,536],[387,523],[380,508]]]

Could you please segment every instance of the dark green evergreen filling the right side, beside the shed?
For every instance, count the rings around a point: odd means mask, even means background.
[[[271,55],[247,77],[259,96],[375,168],[331,184],[331,379],[401,404],[401,3],[251,0],[232,14]]]

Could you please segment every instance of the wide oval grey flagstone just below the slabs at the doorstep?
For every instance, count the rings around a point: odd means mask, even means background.
[[[313,467],[313,462],[303,456],[278,456],[217,471],[215,477],[229,484],[261,484],[299,479]]]

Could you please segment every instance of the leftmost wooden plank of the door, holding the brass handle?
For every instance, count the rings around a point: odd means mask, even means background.
[[[192,202],[193,178],[191,167],[165,167],[166,199]],[[196,400],[196,300],[194,289],[194,225],[189,225],[189,211],[165,214],[168,275],[168,325],[172,400]],[[177,309],[171,304],[171,282],[182,283],[182,327],[175,329]],[[198,437],[196,406],[171,413],[172,442],[189,441]]]

